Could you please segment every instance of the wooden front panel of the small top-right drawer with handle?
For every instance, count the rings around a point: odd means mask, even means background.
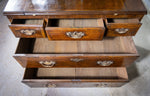
[[[141,24],[114,24],[107,25],[106,36],[134,36]]]

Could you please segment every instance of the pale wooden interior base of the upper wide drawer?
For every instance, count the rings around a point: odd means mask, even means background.
[[[132,37],[104,38],[102,41],[49,41],[37,38],[33,53],[136,53]]]

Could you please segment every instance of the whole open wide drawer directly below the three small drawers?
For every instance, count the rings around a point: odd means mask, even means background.
[[[49,41],[21,38],[14,55],[27,68],[121,67],[138,57],[131,37],[103,41]]]

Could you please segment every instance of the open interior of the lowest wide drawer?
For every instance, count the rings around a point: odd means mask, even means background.
[[[28,68],[24,79],[128,80],[125,67],[119,68]]]

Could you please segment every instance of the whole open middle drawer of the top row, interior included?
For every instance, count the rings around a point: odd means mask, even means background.
[[[49,40],[102,40],[102,19],[49,19],[46,33]]]

